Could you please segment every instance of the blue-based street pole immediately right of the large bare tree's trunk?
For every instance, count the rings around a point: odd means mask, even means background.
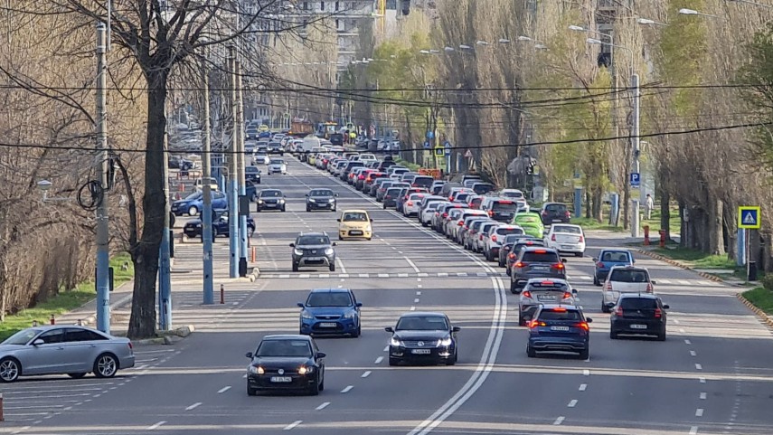
[[[166,111],[164,114],[166,118]],[[168,126],[168,123],[167,123]],[[164,159],[169,150],[168,127],[164,130]],[[169,259],[169,168],[164,162],[164,233],[158,252],[158,328],[168,331],[172,328],[172,270]]]

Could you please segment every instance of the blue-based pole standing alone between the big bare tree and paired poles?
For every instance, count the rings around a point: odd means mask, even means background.
[[[204,61],[202,66],[202,81],[204,88],[204,118],[203,118],[203,144],[202,144],[202,241],[203,241],[203,303],[214,303],[214,285],[212,282],[212,186],[209,178],[212,177],[212,141],[210,132],[210,71],[206,64],[207,51],[204,49]]]

